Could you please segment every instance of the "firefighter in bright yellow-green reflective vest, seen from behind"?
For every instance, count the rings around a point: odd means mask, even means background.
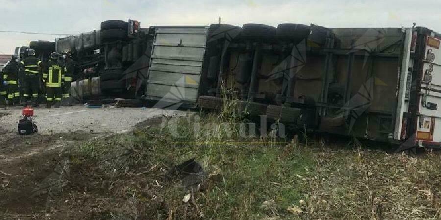
[[[51,53],[50,60],[43,70],[43,76],[46,76],[44,78],[46,84],[46,108],[52,108],[52,103],[54,102],[55,108],[60,107],[63,74],[64,68],[60,64],[59,54],[56,52]]]

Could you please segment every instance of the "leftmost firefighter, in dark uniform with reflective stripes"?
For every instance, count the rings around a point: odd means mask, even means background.
[[[3,78],[7,84],[8,104],[11,106],[20,103],[20,92],[18,88],[18,61],[17,55],[12,55],[11,61],[3,69]]]

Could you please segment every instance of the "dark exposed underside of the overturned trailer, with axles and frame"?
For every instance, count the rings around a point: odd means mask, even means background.
[[[296,31],[287,32],[287,27]],[[221,65],[218,81],[229,97],[251,106],[266,105],[250,113],[266,114],[298,129],[391,138],[404,42],[400,28],[284,24],[266,39],[241,33],[222,54],[221,60],[227,62]],[[205,95],[220,97],[218,83],[209,87]],[[199,102],[204,106],[210,99],[202,97]]]

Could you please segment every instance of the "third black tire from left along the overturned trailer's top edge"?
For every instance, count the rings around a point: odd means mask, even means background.
[[[311,27],[303,24],[282,23],[277,26],[276,35],[281,40],[300,42],[306,40],[311,33]]]

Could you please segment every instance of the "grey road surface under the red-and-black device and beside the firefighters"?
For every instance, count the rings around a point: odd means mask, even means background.
[[[0,108],[0,130],[17,131],[22,107]],[[94,133],[123,132],[139,122],[162,115],[184,114],[177,110],[155,108],[86,108],[84,106],[59,109],[34,108],[34,119],[39,133],[85,131]]]

